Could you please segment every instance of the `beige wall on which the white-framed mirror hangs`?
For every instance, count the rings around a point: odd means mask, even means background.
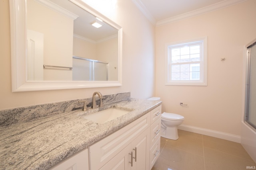
[[[111,1],[111,0],[109,0]],[[104,0],[106,2],[106,0]],[[115,9],[105,16],[123,27],[123,85],[109,88],[11,92],[10,14],[9,1],[0,1],[0,109],[30,106],[64,100],[131,92],[133,98],[149,98],[154,94],[154,25],[133,4],[118,0]],[[114,14],[113,14],[114,12]]]

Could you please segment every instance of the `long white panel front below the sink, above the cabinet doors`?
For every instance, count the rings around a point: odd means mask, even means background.
[[[150,113],[89,146],[90,170],[100,169],[148,127],[150,127]]]

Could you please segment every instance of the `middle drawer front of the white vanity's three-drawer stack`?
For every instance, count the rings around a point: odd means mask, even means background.
[[[156,143],[160,137],[161,130],[161,117],[159,117],[151,126],[150,126],[150,148]]]

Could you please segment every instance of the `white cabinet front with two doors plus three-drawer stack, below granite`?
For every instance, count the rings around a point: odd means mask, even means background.
[[[150,170],[160,152],[161,106],[88,147],[90,170]]]

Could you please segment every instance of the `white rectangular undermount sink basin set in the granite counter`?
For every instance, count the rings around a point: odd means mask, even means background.
[[[129,113],[129,112],[130,111],[128,111],[128,110],[109,108],[109,109],[105,109],[102,111],[92,113],[90,115],[86,115],[86,116],[84,116],[84,118],[94,121],[96,123],[105,123],[107,121],[113,120],[122,115],[125,115],[126,113]]]

